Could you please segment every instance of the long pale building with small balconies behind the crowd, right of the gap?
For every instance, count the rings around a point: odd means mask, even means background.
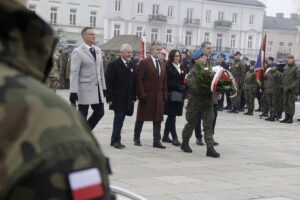
[[[242,2],[242,3],[240,3]],[[146,35],[168,50],[197,49],[255,57],[263,37],[265,6],[256,0],[106,0],[104,42],[115,35]]]

